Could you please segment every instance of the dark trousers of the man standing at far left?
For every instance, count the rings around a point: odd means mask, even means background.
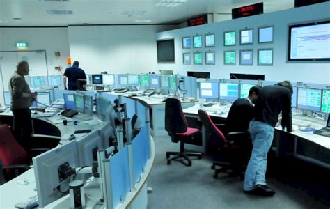
[[[29,150],[32,134],[31,110],[26,109],[12,109],[14,115],[13,133],[15,139],[26,150]]]

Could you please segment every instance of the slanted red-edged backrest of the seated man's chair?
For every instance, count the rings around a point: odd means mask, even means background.
[[[206,139],[212,144],[218,144],[218,146],[223,146],[227,143],[226,137],[223,133],[214,125],[209,114],[203,109],[198,110],[198,116],[203,123],[206,131]]]

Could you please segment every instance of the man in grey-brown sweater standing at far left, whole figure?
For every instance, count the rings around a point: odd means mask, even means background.
[[[9,91],[11,95],[11,111],[14,115],[13,132],[16,140],[24,148],[29,149],[31,139],[31,111],[30,107],[33,100],[36,100],[36,93],[31,93],[29,85],[24,79],[29,75],[29,63],[21,61],[17,64],[17,70],[10,78]]]

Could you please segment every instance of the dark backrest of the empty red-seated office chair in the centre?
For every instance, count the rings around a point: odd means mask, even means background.
[[[172,134],[187,132],[188,122],[184,117],[180,99],[167,98],[165,101],[165,130]]]

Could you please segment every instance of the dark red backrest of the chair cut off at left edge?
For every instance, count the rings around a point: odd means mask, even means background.
[[[8,167],[14,164],[30,164],[26,150],[17,143],[10,127],[0,125],[0,167]],[[13,177],[14,173],[6,171],[6,176]]]

